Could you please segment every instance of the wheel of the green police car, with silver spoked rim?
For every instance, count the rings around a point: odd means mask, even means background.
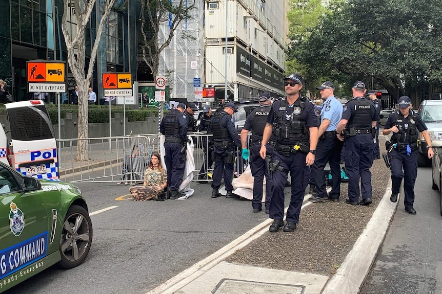
[[[58,265],[72,268],[81,264],[89,253],[92,242],[92,222],[88,212],[73,205],[66,214],[60,239],[62,260]]]

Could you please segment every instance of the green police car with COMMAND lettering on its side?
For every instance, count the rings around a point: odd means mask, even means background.
[[[81,264],[91,242],[91,219],[77,187],[0,162],[0,293],[55,263]]]

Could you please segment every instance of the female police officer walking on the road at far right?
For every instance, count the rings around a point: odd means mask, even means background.
[[[417,140],[419,132],[424,136],[428,146],[427,155],[431,159],[434,155],[431,147],[430,135],[427,126],[420,116],[411,109],[411,100],[408,96],[402,96],[398,99],[399,109],[394,111],[387,119],[382,133],[391,136],[390,169],[392,180],[392,194],[390,201],[397,201],[400,183],[404,178],[404,205],[405,211],[409,214],[416,214],[413,208],[414,203],[414,183],[417,176]],[[404,171],[403,171],[404,169]]]

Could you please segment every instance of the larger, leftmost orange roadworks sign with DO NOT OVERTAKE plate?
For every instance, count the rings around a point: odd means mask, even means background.
[[[30,60],[26,63],[29,92],[66,92],[66,63],[61,60]]]

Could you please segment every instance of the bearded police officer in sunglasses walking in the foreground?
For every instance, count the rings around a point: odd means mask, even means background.
[[[286,98],[275,101],[270,109],[263,142],[259,154],[266,158],[271,134],[276,137],[271,171],[273,172],[273,195],[270,199],[270,232],[277,232],[284,227],[284,232],[293,232],[299,222],[299,213],[305,192],[306,165],[311,166],[315,160],[317,144],[317,119],[312,103],[307,97],[300,96],[303,78],[291,74],[284,79]],[[291,176],[291,198],[284,224],[284,186],[287,175]]]

